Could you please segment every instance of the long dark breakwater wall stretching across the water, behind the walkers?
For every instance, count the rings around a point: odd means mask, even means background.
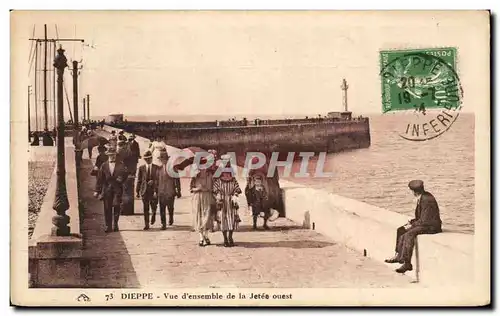
[[[368,118],[252,122],[120,122],[109,124],[174,147],[197,146],[219,152],[340,152],[370,146]]]

